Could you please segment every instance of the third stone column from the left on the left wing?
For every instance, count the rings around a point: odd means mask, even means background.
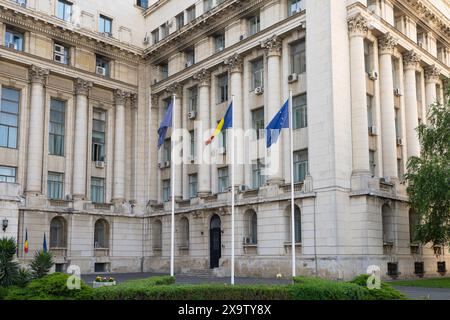
[[[127,93],[122,90],[114,91],[115,98],[115,128],[114,128],[114,183],[113,201],[125,201],[125,100]]]

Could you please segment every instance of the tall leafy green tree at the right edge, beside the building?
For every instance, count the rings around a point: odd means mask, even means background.
[[[450,85],[445,101],[429,107],[428,124],[417,128],[420,157],[408,161],[406,180],[411,208],[419,217],[415,240],[450,243]]]

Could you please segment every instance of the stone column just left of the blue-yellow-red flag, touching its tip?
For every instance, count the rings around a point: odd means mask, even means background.
[[[198,163],[198,196],[205,197],[211,194],[211,147],[205,145],[210,132],[210,106],[211,106],[211,73],[205,69],[194,75],[198,81],[198,127],[197,154]],[[205,133],[206,132],[206,133]]]

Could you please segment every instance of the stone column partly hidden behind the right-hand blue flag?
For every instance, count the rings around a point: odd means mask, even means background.
[[[265,93],[267,95],[267,111],[265,112],[268,123],[275,117],[280,110],[281,102],[281,38],[277,35],[273,35],[270,39],[264,41],[261,47],[265,50],[267,57],[267,84],[265,85]],[[274,144],[270,150],[269,161],[269,176],[268,184],[281,184],[282,178],[282,136],[279,137],[279,141]],[[266,160],[267,161],[267,160]]]

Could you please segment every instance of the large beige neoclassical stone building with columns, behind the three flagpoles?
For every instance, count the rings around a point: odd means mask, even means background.
[[[166,272],[173,191],[176,272],[227,275],[230,139],[203,133],[232,96],[262,129],[292,91],[298,274],[437,275],[449,248],[414,243],[403,175],[449,39],[444,0],[0,0],[0,236],[26,263],[45,235],[58,271]],[[289,137],[268,175],[261,131],[236,151],[236,273],[288,276]]]

